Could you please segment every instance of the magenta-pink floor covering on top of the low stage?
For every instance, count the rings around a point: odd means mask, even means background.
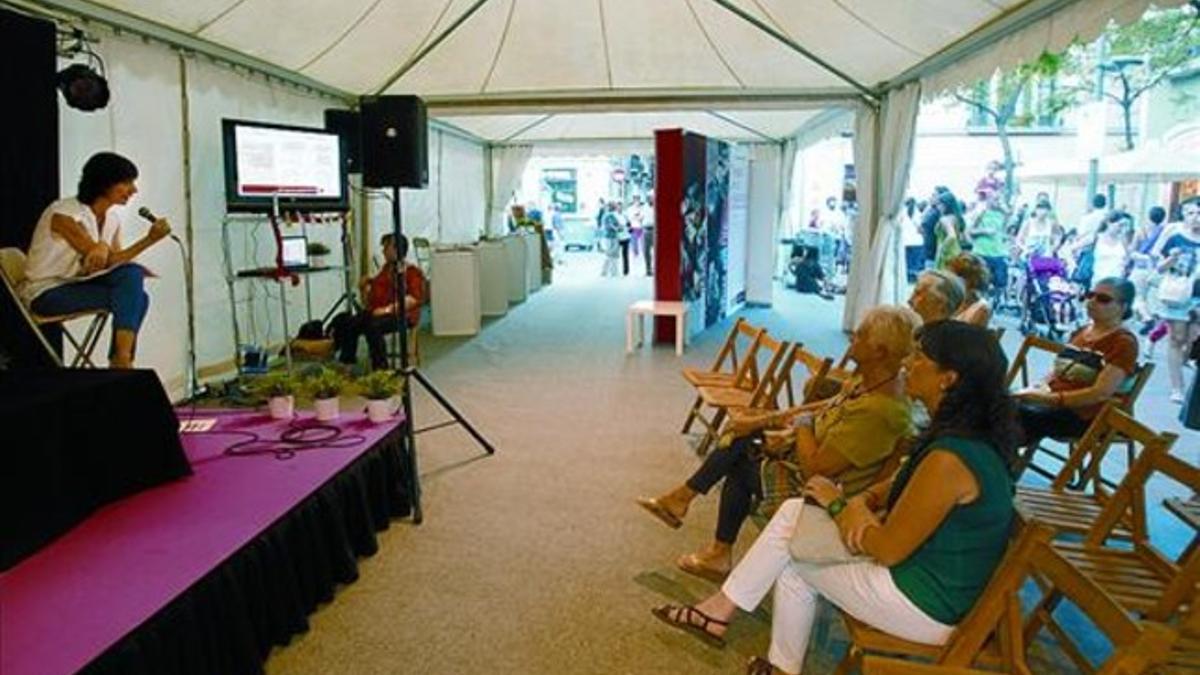
[[[281,460],[223,452],[245,432],[277,438],[288,423],[247,411],[202,410],[196,418],[217,424],[184,435],[194,476],[102,508],[0,574],[0,673],[83,668],[396,426],[343,414],[336,425],[361,441]]]

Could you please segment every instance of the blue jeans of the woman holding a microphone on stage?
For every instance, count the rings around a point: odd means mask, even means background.
[[[44,316],[106,310],[113,316],[114,330],[137,333],[150,309],[144,282],[140,265],[122,264],[95,279],[50,288],[34,298],[30,309]]]

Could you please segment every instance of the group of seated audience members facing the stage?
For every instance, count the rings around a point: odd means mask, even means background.
[[[1094,220],[1098,235],[1115,222]],[[1190,252],[1168,245],[1190,240],[1180,232],[1159,233],[1163,270]],[[774,589],[769,651],[746,668],[755,675],[800,671],[820,597],[905,640],[949,638],[1004,554],[1030,449],[1082,435],[1127,390],[1140,347],[1126,328],[1136,283],[1127,270],[1096,276],[1068,348],[1037,386],[1010,392],[989,327],[990,268],[960,250],[919,271],[907,306],[875,307],[860,321],[846,354],[853,375],[839,393],[739,417],[690,478],[637,500],[678,528],[694,500],[721,484],[712,542],[676,561],[720,589],[692,605],[654,608],[655,617],[721,646],[738,609],[754,611]],[[773,479],[781,468],[794,478],[782,495]],[[756,512],[766,524],[734,561],[733,543]]]

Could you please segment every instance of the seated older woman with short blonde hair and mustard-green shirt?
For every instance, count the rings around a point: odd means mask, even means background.
[[[679,527],[691,501],[724,479],[715,537],[698,552],[680,557],[680,569],[716,580],[728,573],[738,531],[755,500],[763,496],[764,454],[786,461],[772,464],[775,468],[787,470],[787,464],[796,467],[800,474],[794,479],[797,492],[812,476],[835,478],[847,494],[871,482],[895,442],[912,434],[912,411],[899,374],[901,363],[912,353],[919,324],[920,318],[907,307],[871,310],[850,342],[848,356],[858,365],[853,386],[829,401],[760,418],[760,424],[787,425],[782,442],[774,437],[768,442],[754,429],[736,429],[737,437],[720,443],[686,483],[662,496],[638,500],[660,520]]]

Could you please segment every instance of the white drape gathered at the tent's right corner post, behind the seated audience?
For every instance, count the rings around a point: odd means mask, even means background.
[[[842,327],[853,329],[881,301],[900,301],[895,255],[896,215],[908,187],[912,148],[920,108],[920,83],[888,92],[880,110],[863,107],[854,121],[854,168],[859,214],[846,289]],[[890,268],[892,273],[888,274]],[[884,291],[889,291],[884,298]]]

